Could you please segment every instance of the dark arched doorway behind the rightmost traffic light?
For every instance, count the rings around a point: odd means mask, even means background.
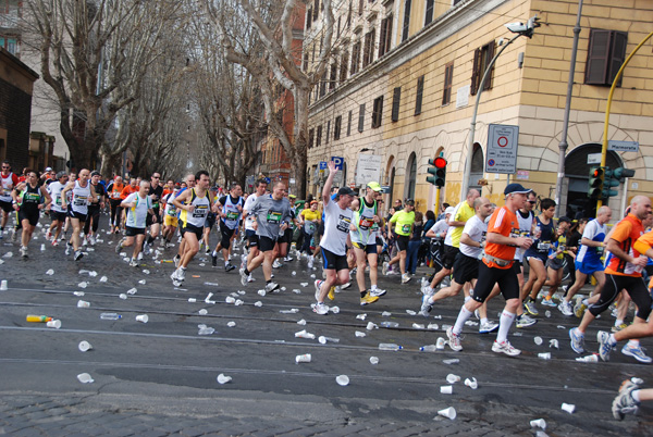
[[[601,153],[602,145],[590,142],[571,150],[565,158],[565,177],[568,180],[565,214],[575,216],[596,216],[596,201],[588,198],[590,168],[599,164],[588,164],[588,154]],[[605,165],[611,168],[624,166],[621,158],[611,150],[605,157]],[[564,191],[563,191],[564,192]]]

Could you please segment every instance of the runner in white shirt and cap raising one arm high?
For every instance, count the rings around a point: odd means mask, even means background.
[[[349,209],[356,193],[348,187],[338,189],[336,200],[331,201],[331,185],[337,168],[335,162],[329,161],[329,177],[322,189],[322,202],[324,204],[324,236],[321,240],[322,259],[324,260],[324,280],[317,279],[316,304],[313,312],[325,315],[329,307],[324,298],[331,287],[349,282],[349,269],[347,266],[347,247],[349,246],[350,230],[357,230],[353,223],[354,212]]]

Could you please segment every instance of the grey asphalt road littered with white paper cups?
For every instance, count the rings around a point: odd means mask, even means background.
[[[638,376],[648,383],[651,367],[618,351],[607,363],[575,361],[568,328],[578,320],[557,309],[550,319],[541,315],[533,327],[512,329],[510,342],[523,351],[518,358],[493,353],[494,335],[478,334],[478,326],[466,327],[461,352],[448,347],[420,352],[419,347],[446,337],[442,326],[454,323],[461,298],[439,303],[428,319],[411,315],[407,311],[419,311],[418,277],[406,286],[398,276],[381,278],[381,288],[389,292],[368,307],[358,304],[353,286],[330,302],[340,313],[320,316],[310,303],[311,275],[320,277],[321,271],[308,270],[304,260],[274,272],[285,290],[259,296],[262,272],[255,272],[257,282],[243,287],[237,271],[211,267],[202,254],[189,266],[183,289],[175,289],[169,278],[173,264],[165,260],[176,249],[167,249],[157,260],[146,257],[134,269],[114,253],[116,236],[101,237],[78,262],[65,257],[62,246],[40,251],[41,234],[27,260],[7,236],[0,242],[0,279],[8,280],[8,290],[0,291],[0,433],[528,436],[539,430],[530,421],[544,419],[551,436],[651,435],[652,409],[643,407],[639,416],[623,422],[609,410],[620,382]],[[50,269],[53,275],[46,273]],[[102,276],[106,282],[100,282]],[[134,295],[120,298],[132,288]],[[209,292],[215,303],[205,303]],[[226,303],[227,297],[243,304]],[[77,308],[79,300],[90,307]],[[497,299],[489,313],[496,320],[502,308]],[[297,311],[287,312],[293,309]],[[207,313],[200,315],[201,310]],[[122,319],[100,320],[103,312]],[[27,314],[52,316],[62,326],[26,322]],[[149,321],[137,322],[138,314]],[[367,317],[358,319],[361,314]],[[306,325],[297,324],[300,320]],[[367,329],[369,322],[379,328]],[[382,322],[398,327],[385,328]],[[198,335],[200,324],[214,333]],[[604,314],[591,327],[590,351],[596,350],[595,332],[611,324]],[[301,329],[316,338],[295,337]],[[322,345],[319,336],[340,341]],[[543,338],[541,346],[533,341],[537,336]],[[553,338],[559,350],[549,347]],[[93,349],[79,351],[83,340]],[[380,342],[395,342],[403,350],[381,351]],[[540,352],[551,352],[552,359],[538,358]],[[307,353],[310,363],[295,362],[296,355]],[[371,357],[379,363],[371,364]],[[448,359],[459,362],[445,364]],[[79,383],[82,373],[94,382]],[[452,373],[461,380],[453,385],[452,395],[443,395],[440,388],[448,385]],[[232,380],[219,384],[220,374]],[[338,375],[347,375],[349,384],[340,386]],[[468,377],[477,378],[478,389],[463,384]],[[560,409],[563,402],[576,405],[574,414]],[[448,407],[457,412],[453,421],[438,415]]]

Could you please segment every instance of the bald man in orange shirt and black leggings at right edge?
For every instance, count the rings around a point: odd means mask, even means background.
[[[601,290],[601,297],[596,303],[593,303],[586,311],[580,326],[569,330],[571,339],[571,349],[575,352],[583,351],[584,333],[590,323],[596,319],[599,314],[609,308],[612,302],[619,296],[621,290],[627,290],[628,295],[637,305],[637,314],[633,324],[621,332],[609,334],[600,330],[596,335],[599,341],[599,355],[603,361],[609,360],[609,352],[617,346],[618,340],[628,338],[639,338],[651,335],[651,324],[646,324],[646,319],[651,313],[651,295],[642,279],[642,270],[646,265],[649,259],[642,255],[638,250],[644,250],[644,253],[650,249],[648,244],[649,238],[638,242],[644,234],[642,220],[651,214],[651,199],[645,196],[636,196],[630,202],[630,213],[620,221],[611,238],[607,240],[606,250],[613,258],[609,264],[605,267],[605,285]],[[653,253],[652,253],[653,254]],[[640,326],[641,325],[641,326]],[[627,355],[634,357],[639,361],[651,362],[651,359],[644,354],[639,345],[637,350],[629,350],[629,345],[621,350]]]

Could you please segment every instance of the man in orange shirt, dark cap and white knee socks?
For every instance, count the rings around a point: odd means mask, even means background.
[[[530,191],[520,184],[509,184],[504,190],[506,204],[494,211],[490,217],[485,251],[482,262],[479,264],[477,288],[472,298],[460,309],[456,324],[446,330],[449,347],[455,351],[463,350],[460,333],[465,322],[483,304],[494,286],[498,284],[506,300],[506,307],[501,314],[498,333],[494,345],[492,345],[492,351],[510,357],[521,353],[519,349],[515,349],[510,345],[507,338],[510,325],[515,321],[517,308],[521,303],[517,273],[513,269],[515,250],[518,247],[526,250],[533,244],[532,239],[520,237],[519,222],[515,212],[523,208]]]

